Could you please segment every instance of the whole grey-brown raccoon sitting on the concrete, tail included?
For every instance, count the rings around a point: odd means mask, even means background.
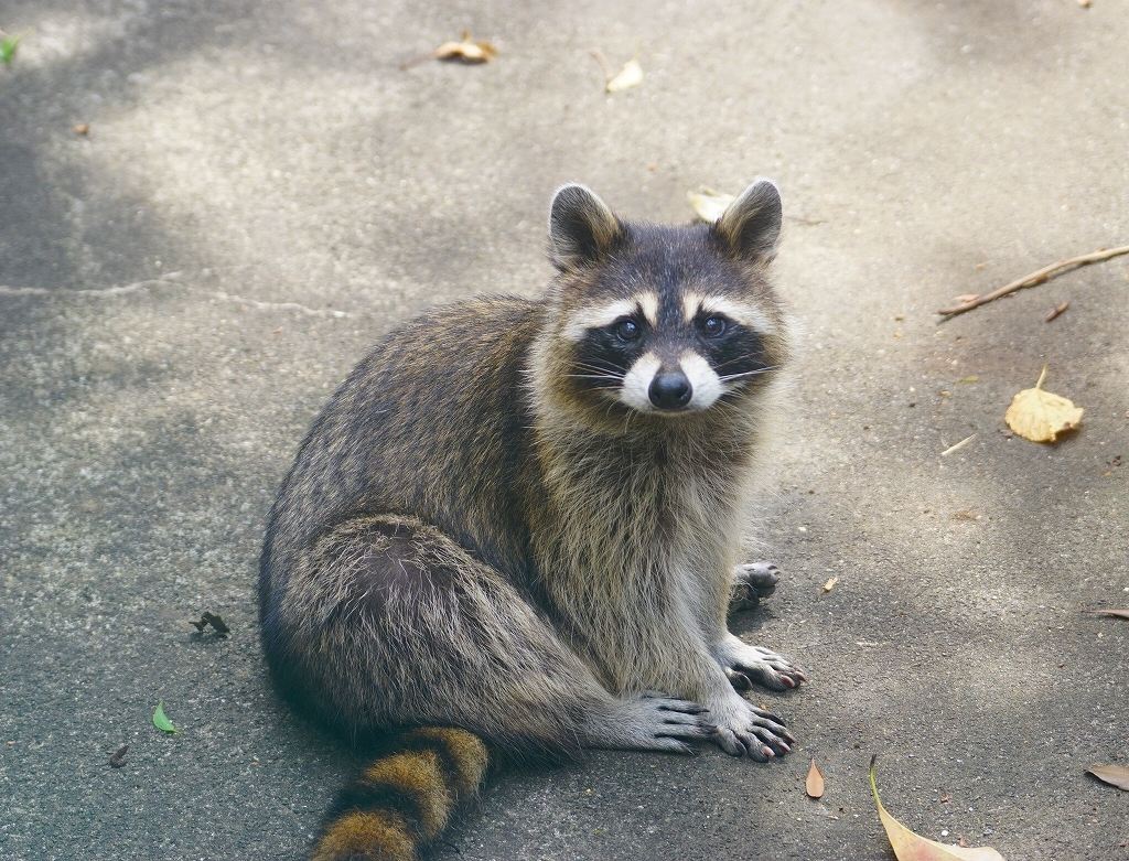
[[[502,758],[788,753],[738,689],[804,671],[726,626],[778,579],[738,555],[789,354],[780,226],[768,179],[685,227],[566,185],[541,299],[431,310],[333,395],[260,578],[279,687],[384,746],[314,859],[415,858]]]

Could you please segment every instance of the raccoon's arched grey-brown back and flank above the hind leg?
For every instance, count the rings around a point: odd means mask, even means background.
[[[334,393],[271,510],[264,616],[294,554],[334,524],[396,512],[439,527],[520,579],[533,424],[523,388],[543,306],[483,297],[394,330]]]

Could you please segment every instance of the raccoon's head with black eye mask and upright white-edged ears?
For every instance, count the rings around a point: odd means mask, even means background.
[[[787,353],[767,271],[780,225],[768,179],[716,223],[685,227],[625,223],[585,186],[563,186],[549,219],[561,274],[540,344],[552,379],[539,385],[610,419],[690,416],[754,394]]]

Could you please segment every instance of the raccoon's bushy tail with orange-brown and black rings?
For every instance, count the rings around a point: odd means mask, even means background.
[[[338,797],[310,861],[414,861],[478,794],[488,765],[485,744],[466,730],[404,732]]]

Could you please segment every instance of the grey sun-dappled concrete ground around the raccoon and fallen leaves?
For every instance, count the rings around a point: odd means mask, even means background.
[[[273,695],[254,582],[326,396],[425,307],[535,293],[558,184],[682,221],[688,190],[759,175],[804,349],[750,524],[786,580],[736,626],[807,668],[755,695],[800,748],[509,774],[438,856],[889,859],[877,753],[928,837],[1129,858],[1129,794],[1083,771],[1129,754],[1129,623],[1080,613],[1129,606],[1129,257],[935,314],[1129,244],[1127,23],[1127,0],[5,0],[0,27],[35,29],[0,67],[0,858],[300,858],[356,761]],[[400,68],[464,28],[498,60]],[[593,46],[646,79],[605,95]],[[1056,446],[1003,432],[1044,363],[1086,410]],[[195,633],[204,610],[231,635]]]

